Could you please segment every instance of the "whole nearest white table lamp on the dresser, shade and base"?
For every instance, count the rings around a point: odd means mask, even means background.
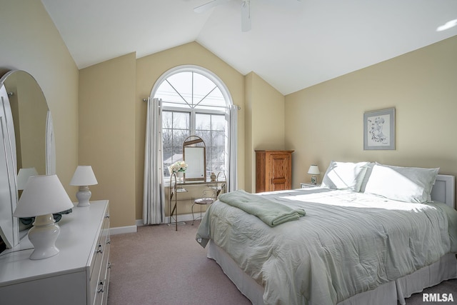
[[[52,214],[71,208],[73,203],[56,175],[29,177],[13,216],[35,217],[29,230],[29,240],[35,248],[30,259],[47,259],[59,253],[56,239],[60,228]]]

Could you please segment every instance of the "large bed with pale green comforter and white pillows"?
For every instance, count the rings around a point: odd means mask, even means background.
[[[457,278],[455,182],[438,170],[332,161],[322,187],[220,197],[196,240],[253,304],[405,304]],[[232,199],[304,213],[275,225]]]

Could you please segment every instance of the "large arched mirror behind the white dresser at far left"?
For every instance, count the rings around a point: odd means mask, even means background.
[[[10,138],[7,139],[5,133],[2,135],[6,155],[0,156],[4,164],[4,160],[13,160],[13,169],[9,166],[9,171],[14,171],[14,176],[1,178],[8,180],[8,186],[2,186],[0,194],[1,231],[12,232],[2,234],[1,238],[8,239],[5,244],[10,247],[17,244],[20,238],[16,233],[16,230],[19,231],[18,221],[12,216],[19,198],[15,195],[18,189],[21,194],[21,188],[18,187],[20,179],[17,178],[16,184],[16,175],[21,169],[39,175],[55,174],[55,144],[49,107],[34,77],[26,71],[9,71],[1,77],[0,86],[3,89],[1,101],[4,118],[12,118],[4,122],[9,127]],[[28,226],[21,224],[21,227],[27,229]],[[12,236],[12,239],[8,236]]]

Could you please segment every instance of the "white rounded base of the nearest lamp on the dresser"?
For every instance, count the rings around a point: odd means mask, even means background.
[[[47,259],[59,254],[56,239],[60,234],[60,227],[54,223],[52,214],[36,216],[34,226],[29,230],[29,240],[35,249],[29,259]]]

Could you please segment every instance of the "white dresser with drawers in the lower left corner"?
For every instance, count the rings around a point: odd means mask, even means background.
[[[56,256],[32,261],[27,237],[0,254],[0,304],[106,304],[109,201],[75,206],[59,226]]]

